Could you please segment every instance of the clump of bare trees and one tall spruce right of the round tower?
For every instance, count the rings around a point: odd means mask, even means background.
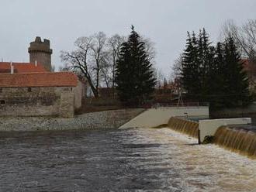
[[[85,80],[92,96],[98,98],[99,87],[112,88],[123,105],[144,105],[156,85],[154,46],[141,37],[132,26],[128,38],[105,33],[79,37],[73,51],[62,51],[66,70],[72,70]]]

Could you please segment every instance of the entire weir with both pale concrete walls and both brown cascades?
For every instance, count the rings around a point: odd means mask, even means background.
[[[209,118],[209,108],[150,108],[119,129],[156,128],[167,125],[170,129],[199,139],[199,144],[215,143],[256,159],[256,128],[250,127],[251,118],[205,119],[199,122],[193,122],[188,118]]]

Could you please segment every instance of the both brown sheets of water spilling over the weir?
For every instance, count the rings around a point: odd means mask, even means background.
[[[172,117],[168,127],[185,135],[199,138],[199,123]],[[213,135],[213,143],[235,153],[256,159],[256,128],[249,125],[222,125]]]

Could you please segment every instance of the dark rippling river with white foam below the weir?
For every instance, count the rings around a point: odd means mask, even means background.
[[[255,160],[170,129],[0,135],[0,191],[256,191]]]

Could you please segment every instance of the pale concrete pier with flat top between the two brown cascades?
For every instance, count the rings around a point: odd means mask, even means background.
[[[200,140],[206,136],[213,136],[222,125],[247,125],[251,124],[251,118],[221,118],[199,121]]]

